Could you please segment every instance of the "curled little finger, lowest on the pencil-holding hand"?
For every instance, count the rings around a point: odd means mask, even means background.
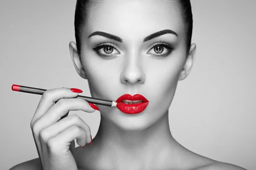
[[[64,149],[69,149],[70,142],[76,139],[79,146],[86,144],[86,133],[80,127],[73,125],[68,127],[57,136],[48,140],[47,145],[52,152],[63,152]],[[66,147],[66,148],[65,148]]]

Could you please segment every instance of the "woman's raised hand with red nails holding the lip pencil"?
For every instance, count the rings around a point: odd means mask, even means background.
[[[57,88],[41,97],[30,127],[44,170],[78,170],[70,147],[75,148],[75,139],[80,146],[91,142],[90,127],[76,114],[67,116],[69,111],[95,111],[84,99],[74,98],[78,94]]]

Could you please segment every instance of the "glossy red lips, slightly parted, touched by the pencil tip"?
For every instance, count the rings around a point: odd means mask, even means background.
[[[125,104],[122,101],[123,100],[142,100],[143,102],[138,104]],[[134,94],[131,96],[131,94],[124,94],[120,96],[116,102],[118,105],[116,106],[120,111],[126,114],[137,114],[145,110],[145,108],[148,106],[148,100],[140,95],[140,94]]]

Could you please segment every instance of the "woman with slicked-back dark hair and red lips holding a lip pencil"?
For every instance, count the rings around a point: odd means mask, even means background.
[[[177,82],[195,61],[189,0],[78,0],[75,31],[69,47],[77,73],[93,97],[122,108],[74,99],[75,88],[46,91],[31,121],[39,158],[12,170],[243,169],[187,150],[169,130]],[[100,111],[93,140],[76,114],[59,120],[73,110]]]

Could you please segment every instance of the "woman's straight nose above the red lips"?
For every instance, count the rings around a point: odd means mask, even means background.
[[[145,82],[145,74],[137,56],[127,56],[124,59],[120,81],[124,84],[137,84]]]

